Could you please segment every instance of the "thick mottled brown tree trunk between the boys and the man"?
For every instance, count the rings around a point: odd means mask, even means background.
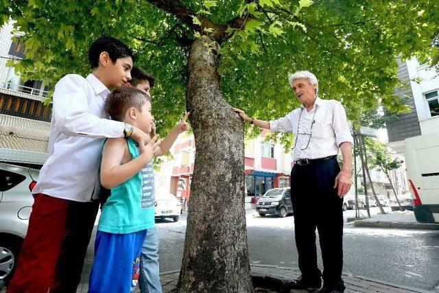
[[[198,38],[186,89],[196,145],[178,292],[253,292],[244,207],[244,127],[222,97],[216,54]]]

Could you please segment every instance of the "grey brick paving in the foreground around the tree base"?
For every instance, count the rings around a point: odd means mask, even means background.
[[[280,287],[283,283],[296,279],[300,276],[298,268],[282,268],[278,266],[264,266],[255,265],[251,267],[254,285],[270,283],[274,288]],[[163,293],[170,293],[175,290],[178,275],[178,270],[172,272],[163,272],[160,274],[161,283],[163,286]],[[401,285],[386,283],[375,279],[368,279],[366,277],[353,277],[348,274],[343,275],[344,283],[346,285],[345,292],[427,292],[416,288],[408,288]],[[272,290],[255,290],[255,292],[278,292],[276,289]],[[80,284],[77,293],[86,293],[88,283]],[[139,292],[136,290],[135,292]],[[291,292],[307,292],[304,290],[291,290]]]

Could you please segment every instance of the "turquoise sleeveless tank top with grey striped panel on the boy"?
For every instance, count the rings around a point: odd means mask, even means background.
[[[139,150],[127,139],[132,159]],[[115,234],[133,233],[154,226],[154,169],[150,161],[141,172],[110,190],[102,207],[97,230]]]

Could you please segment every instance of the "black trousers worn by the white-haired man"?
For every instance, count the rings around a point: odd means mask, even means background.
[[[320,278],[317,267],[316,228],[323,260],[326,286],[342,284],[343,199],[333,188],[340,172],[337,159],[308,165],[295,164],[291,172],[294,233],[302,278]]]

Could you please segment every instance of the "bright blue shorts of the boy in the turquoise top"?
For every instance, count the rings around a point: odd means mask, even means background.
[[[88,292],[132,292],[139,281],[146,230],[113,234],[97,231]]]

